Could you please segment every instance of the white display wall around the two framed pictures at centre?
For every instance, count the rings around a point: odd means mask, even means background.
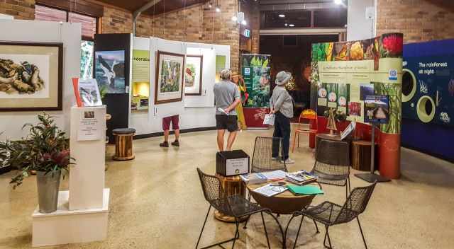
[[[137,135],[162,132],[162,118],[177,114],[179,115],[180,129],[216,126],[213,93],[216,76],[216,55],[225,55],[226,66],[229,65],[230,46],[170,41],[156,37],[134,37],[133,50],[150,50],[149,110],[148,112],[132,111],[130,115],[130,126],[136,129]],[[181,102],[155,105],[157,50],[177,54],[204,55],[201,96],[183,95]]]

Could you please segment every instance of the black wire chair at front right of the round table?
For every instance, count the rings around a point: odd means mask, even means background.
[[[358,216],[366,209],[367,203],[369,203],[370,197],[372,196],[372,192],[374,192],[375,185],[377,185],[377,182],[367,187],[355,187],[343,206],[333,202],[323,202],[315,207],[309,207],[306,210],[294,212],[292,219],[300,215],[302,215],[302,217],[293,248],[297,245],[299,231],[301,230],[301,224],[303,223],[304,216],[307,216],[309,219],[319,221],[321,224],[325,225],[326,233],[323,245],[326,248],[332,248],[331,238],[328,233],[328,228],[330,226],[348,223],[353,221],[353,219],[356,219],[358,221],[358,226],[360,227],[362,241],[367,249],[367,244],[364,238],[364,233],[362,233],[360,219]],[[326,245],[326,238],[328,238],[329,246]]]

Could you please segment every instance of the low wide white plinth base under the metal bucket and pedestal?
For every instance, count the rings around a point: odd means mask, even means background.
[[[33,247],[106,239],[110,189],[104,189],[102,207],[95,209],[70,210],[69,195],[69,191],[59,192],[57,211],[52,214],[41,214],[35,209]]]

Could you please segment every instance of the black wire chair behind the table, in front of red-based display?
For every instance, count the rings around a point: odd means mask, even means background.
[[[317,183],[345,186],[345,198],[350,192],[350,145],[346,141],[321,139],[317,143],[316,160],[311,173]]]

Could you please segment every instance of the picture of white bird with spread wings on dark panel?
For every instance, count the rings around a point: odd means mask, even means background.
[[[94,52],[94,76],[99,89],[107,93],[126,93],[125,50]]]

